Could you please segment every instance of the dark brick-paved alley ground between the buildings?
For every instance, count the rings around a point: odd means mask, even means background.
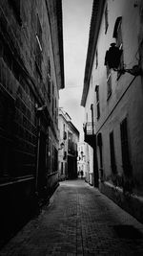
[[[143,225],[84,180],[63,181],[5,255],[143,255]]]

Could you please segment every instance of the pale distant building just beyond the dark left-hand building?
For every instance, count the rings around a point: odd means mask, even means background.
[[[79,131],[72,124],[71,117],[59,108],[59,179],[77,177],[77,144]]]

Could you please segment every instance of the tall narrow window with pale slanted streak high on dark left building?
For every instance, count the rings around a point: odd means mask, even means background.
[[[36,53],[35,53],[35,62],[40,71],[41,75],[41,62],[42,62],[42,28],[40,20],[37,14],[37,31],[36,31]]]

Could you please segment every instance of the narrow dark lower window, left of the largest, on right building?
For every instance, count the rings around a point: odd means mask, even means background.
[[[110,133],[110,149],[111,149],[111,168],[112,168],[112,173],[115,174],[116,164],[115,164],[113,131]]]

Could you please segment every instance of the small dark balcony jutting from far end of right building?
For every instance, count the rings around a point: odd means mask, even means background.
[[[85,142],[87,142],[92,148],[95,147],[95,125],[92,122],[88,122],[83,126],[85,133]]]

